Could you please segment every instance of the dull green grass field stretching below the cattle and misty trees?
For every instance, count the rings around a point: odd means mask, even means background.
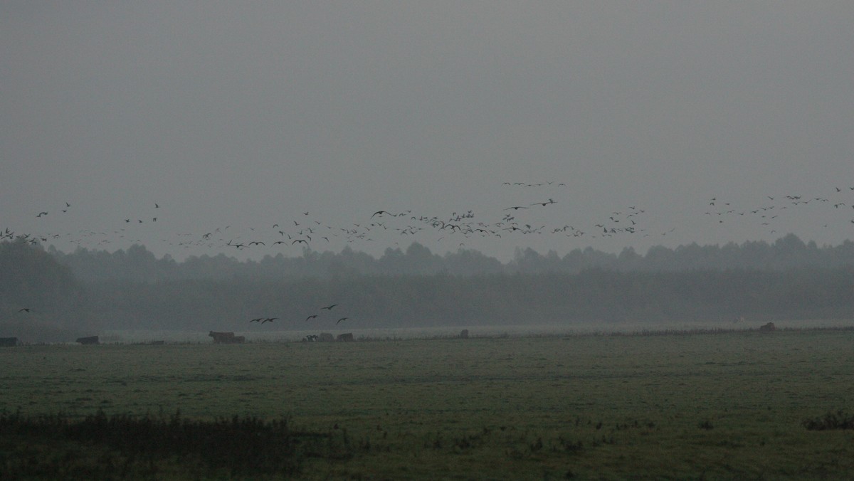
[[[298,478],[854,477],[854,431],[804,426],[854,411],[851,330],[47,345],[0,363],[6,413],[284,417],[325,436]]]

